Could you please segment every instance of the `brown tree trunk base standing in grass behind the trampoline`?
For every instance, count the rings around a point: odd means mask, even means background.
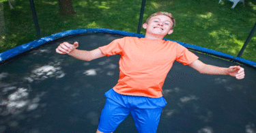
[[[59,0],[59,9],[61,14],[76,14],[72,5],[72,0]]]

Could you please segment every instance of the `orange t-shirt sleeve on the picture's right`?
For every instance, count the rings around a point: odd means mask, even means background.
[[[197,57],[197,55],[190,52],[187,48],[180,44],[177,44],[176,61],[179,61],[183,65],[188,65],[190,63],[193,63],[193,61],[197,60],[198,58],[199,57]]]

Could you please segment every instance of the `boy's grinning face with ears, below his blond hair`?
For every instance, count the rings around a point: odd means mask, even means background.
[[[154,35],[167,35],[173,33],[173,22],[171,18],[165,15],[153,16],[148,23],[143,24],[146,33]]]

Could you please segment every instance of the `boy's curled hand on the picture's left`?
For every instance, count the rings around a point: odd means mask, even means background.
[[[74,42],[74,44],[63,42],[62,44],[59,44],[59,46],[56,48],[56,53],[69,54],[72,50],[74,50],[77,47],[79,47],[79,42]]]

